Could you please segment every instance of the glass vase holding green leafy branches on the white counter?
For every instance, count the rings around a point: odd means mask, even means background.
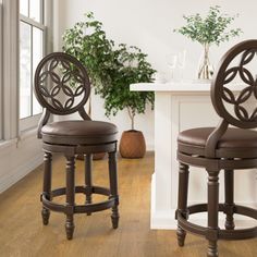
[[[236,16],[238,14],[229,16],[222,13],[219,5],[210,7],[206,17],[201,17],[199,13],[189,16],[183,15],[186,25],[174,29],[174,32],[191,38],[193,41],[198,41],[204,48],[198,78],[210,79],[212,76],[213,68],[209,62],[209,47],[213,44],[219,46],[242,33],[241,28],[228,28]]]

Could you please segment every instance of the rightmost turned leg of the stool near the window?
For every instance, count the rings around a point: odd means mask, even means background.
[[[115,205],[112,207],[112,228],[117,229],[119,225],[119,195],[118,195],[118,178],[117,178],[117,152],[109,152],[109,178],[110,178],[110,191],[111,196],[115,199]]]

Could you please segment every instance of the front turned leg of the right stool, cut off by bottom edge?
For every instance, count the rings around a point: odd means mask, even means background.
[[[219,233],[219,171],[208,171],[208,257],[217,257]]]

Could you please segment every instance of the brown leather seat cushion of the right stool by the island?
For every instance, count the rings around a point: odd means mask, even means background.
[[[205,156],[206,142],[215,127],[198,127],[183,131],[178,137],[179,149],[189,155]],[[257,132],[230,127],[220,138],[216,157],[257,157]]]

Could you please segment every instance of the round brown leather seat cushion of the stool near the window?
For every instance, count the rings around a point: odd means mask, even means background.
[[[117,140],[114,124],[101,121],[60,121],[42,126],[42,140],[51,144],[87,145]]]

